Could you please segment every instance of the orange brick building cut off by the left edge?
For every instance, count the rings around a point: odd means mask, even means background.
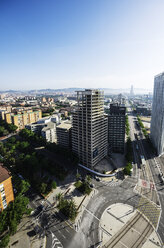
[[[0,164],[0,211],[3,211],[11,201],[14,201],[11,174]]]

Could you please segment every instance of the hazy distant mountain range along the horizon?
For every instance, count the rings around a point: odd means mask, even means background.
[[[111,88],[99,88],[103,90],[105,94],[119,94],[119,93],[129,93],[130,88],[126,89],[111,89]],[[77,90],[84,90],[84,88],[63,88],[63,89],[39,89],[39,90],[6,90],[0,91],[0,94],[8,93],[8,94],[54,94],[54,93],[74,93]],[[152,89],[141,89],[134,88],[134,94],[148,94],[152,93]]]

